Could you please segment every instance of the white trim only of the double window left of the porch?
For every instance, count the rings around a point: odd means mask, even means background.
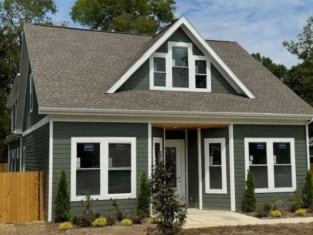
[[[77,143],[100,143],[100,195],[91,195],[94,200],[110,198],[136,198],[136,137],[72,137],[71,139],[71,201],[77,202],[85,196],[76,196],[76,155]],[[108,144],[131,144],[131,191],[127,194],[108,194]]]

